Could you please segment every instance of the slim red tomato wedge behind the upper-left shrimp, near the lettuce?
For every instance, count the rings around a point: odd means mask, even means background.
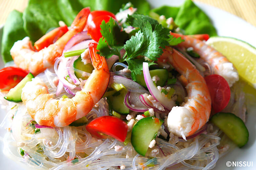
[[[41,37],[39,40],[37,40],[34,43],[34,48],[37,51],[40,51],[44,47],[48,47],[50,44],[55,43],[59,38],[61,38],[67,31],[68,28],[66,25],[55,28],[54,30],[50,31],[49,33]]]

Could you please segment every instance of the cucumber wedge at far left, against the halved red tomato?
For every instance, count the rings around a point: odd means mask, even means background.
[[[21,101],[21,93],[22,93],[22,88],[25,86],[25,84],[28,81],[31,81],[32,78],[34,78],[33,74],[28,73],[20,83],[18,83],[14,88],[12,88],[7,95],[4,97],[6,100],[9,101],[14,101],[14,102],[19,102]]]

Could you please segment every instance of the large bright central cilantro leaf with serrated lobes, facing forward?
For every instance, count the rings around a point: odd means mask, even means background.
[[[127,52],[127,56],[135,58],[142,55],[155,61],[163,53],[163,49],[159,47],[164,48],[169,45],[169,30],[157,24],[152,32],[151,24],[146,22],[145,26],[142,27],[142,31],[137,32],[135,36],[126,41],[124,49]]]

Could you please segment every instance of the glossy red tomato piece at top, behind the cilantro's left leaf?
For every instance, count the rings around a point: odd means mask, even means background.
[[[109,15],[102,15],[94,18],[88,25],[88,34],[91,36],[93,40],[96,42],[99,42],[100,38],[102,38],[101,35],[101,23],[103,20],[107,23],[111,16]]]

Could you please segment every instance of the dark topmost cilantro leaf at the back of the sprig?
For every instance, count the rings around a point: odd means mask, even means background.
[[[156,24],[158,24],[157,20],[147,15],[141,15],[141,14],[128,15],[126,22],[128,22],[133,27],[139,27],[139,28],[146,27],[147,22],[149,22],[153,30],[155,29]]]

